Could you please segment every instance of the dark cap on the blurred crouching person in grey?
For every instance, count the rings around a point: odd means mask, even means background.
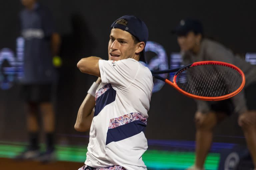
[[[186,36],[189,32],[203,36],[204,31],[202,23],[196,19],[183,19],[180,21],[179,25],[172,30],[172,33],[177,36]]]

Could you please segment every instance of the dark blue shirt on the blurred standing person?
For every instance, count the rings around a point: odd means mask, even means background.
[[[20,13],[21,34],[25,39],[24,84],[50,83],[56,79],[52,64],[51,36],[53,23],[47,8],[36,4],[33,10]]]

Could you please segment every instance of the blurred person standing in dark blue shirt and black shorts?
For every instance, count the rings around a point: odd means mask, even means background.
[[[20,12],[21,34],[25,39],[24,75],[21,79],[25,100],[29,145],[16,159],[55,160],[55,113],[52,103],[57,73],[53,56],[58,54],[60,36],[55,32],[50,11],[37,0],[21,0],[25,9]],[[38,116],[41,112],[46,138],[46,152],[39,147]]]

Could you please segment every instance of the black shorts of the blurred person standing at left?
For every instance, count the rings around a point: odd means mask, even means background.
[[[54,85],[52,83],[22,85],[20,95],[25,102],[51,102],[54,95]]]

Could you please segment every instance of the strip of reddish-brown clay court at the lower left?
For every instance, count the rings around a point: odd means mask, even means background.
[[[49,164],[41,164],[35,161],[15,161],[9,158],[0,158],[0,170],[77,170],[83,166],[83,162],[57,161]]]

